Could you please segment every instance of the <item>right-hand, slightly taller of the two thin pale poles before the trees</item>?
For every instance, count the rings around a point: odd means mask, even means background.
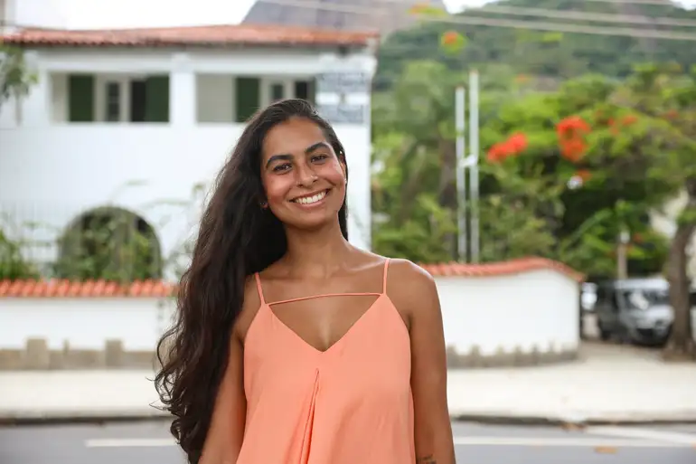
[[[478,71],[469,72],[469,188],[471,189],[471,262],[478,263],[481,254],[478,202]]]

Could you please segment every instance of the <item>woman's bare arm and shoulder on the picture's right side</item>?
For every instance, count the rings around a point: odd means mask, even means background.
[[[447,351],[435,280],[409,261],[395,261],[390,266],[392,299],[409,320],[416,462],[455,464],[447,408]]]

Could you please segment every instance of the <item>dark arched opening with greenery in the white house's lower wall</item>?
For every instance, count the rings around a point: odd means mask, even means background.
[[[83,213],[59,240],[56,277],[122,282],[162,279],[155,230],[135,213],[104,207]]]

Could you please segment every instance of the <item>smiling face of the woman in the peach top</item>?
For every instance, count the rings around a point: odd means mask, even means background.
[[[306,118],[289,119],[268,131],[261,151],[266,202],[282,223],[310,229],[336,220],[345,166],[321,128]]]

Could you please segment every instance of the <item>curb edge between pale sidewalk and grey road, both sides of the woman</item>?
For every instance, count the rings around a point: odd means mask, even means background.
[[[142,409],[137,411],[90,411],[90,412],[0,412],[0,427],[40,426],[40,425],[71,425],[71,424],[103,424],[118,422],[168,421],[169,413],[152,408],[150,412]],[[501,413],[457,413],[450,414],[450,419],[456,422],[475,422],[491,425],[521,425],[528,427],[587,427],[599,425],[631,426],[631,425],[691,425],[696,424],[696,412],[663,415],[662,417],[640,417],[635,414],[622,414],[616,417],[586,417],[578,416],[543,416],[515,415]]]

